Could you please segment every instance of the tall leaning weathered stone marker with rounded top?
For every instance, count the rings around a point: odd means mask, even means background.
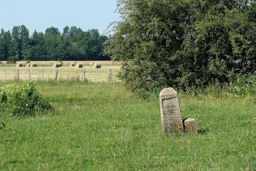
[[[178,93],[165,88],[160,93],[162,130],[164,133],[184,132]]]

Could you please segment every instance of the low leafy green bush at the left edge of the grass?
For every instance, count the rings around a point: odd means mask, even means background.
[[[49,101],[40,98],[32,81],[23,86],[12,84],[0,88],[0,108],[2,114],[13,116],[32,116],[52,110]]]

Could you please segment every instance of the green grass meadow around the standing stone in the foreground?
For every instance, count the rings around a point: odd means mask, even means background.
[[[163,135],[159,100],[137,99],[120,84],[37,82],[37,89],[55,111],[0,117],[1,171],[256,170],[252,97],[180,95],[182,117],[196,119],[198,135]]]

